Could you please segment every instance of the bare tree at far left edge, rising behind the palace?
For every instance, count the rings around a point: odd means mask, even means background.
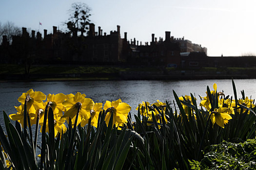
[[[21,29],[13,22],[7,21],[3,25],[0,24],[0,40],[2,40],[2,35],[6,35],[7,40],[11,42],[13,35],[21,35]]]

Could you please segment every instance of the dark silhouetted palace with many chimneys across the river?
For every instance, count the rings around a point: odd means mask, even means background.
[[[53,26],[53,33],[42,35],[26,28],[22,35],[12,36],[12,42],[2,36],[0,62],[5,64],[97,64],[144,65],[174,68],[201,67],[254,67],[255,57],[209,57],[207,48],[190,40],[175,38],[165,32],[165,39],[152,34],[151,42],[138,42],[136,38],[121,38],[120,26],[110,34],[89,25],[87,36],[72,36]]]

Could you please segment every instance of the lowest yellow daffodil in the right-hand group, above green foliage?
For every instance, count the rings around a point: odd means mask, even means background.
[[[224,128],[224,124],[228,123],[228,120],[232,119],[232,117],[228,114],[229,108],[219,107],[215,108],[213,112],[211,112],[211,120],[213,125],[217,123],[220,127]]]

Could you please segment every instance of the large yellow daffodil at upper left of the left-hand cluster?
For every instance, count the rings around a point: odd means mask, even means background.
[[[37,109],[43,109],[43,100],[46,99],[46,95],[40,91],[30,89],[26,93],[22,93],[22,95],[18,98],[18,101],[24,104],[28,94],[30,96],[29,101],[27,102],[28,113],[36,113]]]

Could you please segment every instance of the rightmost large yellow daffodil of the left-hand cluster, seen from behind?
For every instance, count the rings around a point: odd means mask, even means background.
[[[127,123],[128,113],[131,111],[131,106],[122,102],[121,99],[118,99],[113,102],[106,101],[104,110],[106,111],[106,124],[108,125],[111,112],[113,111],[113,125],[116,124],[116,127],[118,127],[118,123]]]

